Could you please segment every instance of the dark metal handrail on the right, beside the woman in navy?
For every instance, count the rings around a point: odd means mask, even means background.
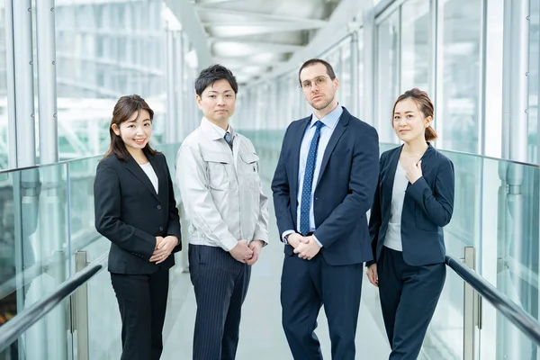
[[[540,347],[540,323],[538,320],[455,257],[446,256],[446,265],[452,268],[455,274],[461,276],[465,283],[471,285],[477,293],[480,293],[482,299],[490,302],[495,309],[500,311],[528,338],[534,341],[536,346]]]

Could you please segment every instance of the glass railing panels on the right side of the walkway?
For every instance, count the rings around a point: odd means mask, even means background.
[[[239,132],[254,142],[262,159],[261,176],[270,181],[284,131]],[[381,144],[381,153],[396,146]],[[454,215],[445,228],[447,254],[463,258],[464,247],[473,247],[475,271],[537,319],[540,168],[455,151],[442,153],[455,165]],[[379,316],[380,310],[370,311]],[[482,302],[478,311],[475,358],[536,358],[536,346],[489,303]],[[464,320],[464,281],[448,269],[420,358],[464,358]],[[496,357],[492,357],[494,351]]]

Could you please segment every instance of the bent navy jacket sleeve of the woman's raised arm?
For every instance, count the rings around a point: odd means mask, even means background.
[[[424,176],[420,176],[407,192],[430,220],[443,227],[450,222],[454,211],[454,182],[454,164],[444,157],[437,169],[435,191],[429,187]]]

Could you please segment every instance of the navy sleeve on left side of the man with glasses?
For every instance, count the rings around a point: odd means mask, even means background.
[[[277,228],[279,229],[280,242],[281,234],[283,234],[284,231],[294,229],[293,217],[291,215],[291,189],[289,187],[289,175],[287,174],[286,167],[289,158],[287,158],[285,146],[287,143],[287,134],[289,133],[291,126],[293,125],[289,125],[285,131],[279,160],[277,161],[274,178],[272,179],[275,218],[277,220]]]

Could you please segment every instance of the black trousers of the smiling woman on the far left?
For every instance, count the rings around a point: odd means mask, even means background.
[[[157,360],[163,351],[163,324],[169,271],[151,275],[111,274],[121,315],[121,360]]]

